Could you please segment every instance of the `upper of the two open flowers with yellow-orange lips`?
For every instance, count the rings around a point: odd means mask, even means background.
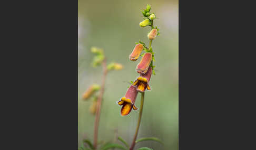
[[[149,67],[149,69],[145,74],[141,74],[140,77],[137,77],[137,79],[132,84],[136,87],[137,91],[145,92],[146,89],[151,90],[149,85],[151,74],[152,74],[152,68]]]

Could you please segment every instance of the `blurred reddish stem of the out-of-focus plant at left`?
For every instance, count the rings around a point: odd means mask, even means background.
[[[106,59],[103,60],[102,67],[103,67],[102,84],[101,84],[100,95],[97,100],[97,109],[96,109],[96,116],[95,116],[95,123],[94,123],[94,139],[93,139],[94,149],[97,149],[97,136],[98,136],[98,130],[99,130],[100,115],[101,115],[101,103],[102,103],[102,97],[103,97],[104,87],[105,87],[105,80],[106,80],[106,75],[107,75]]]

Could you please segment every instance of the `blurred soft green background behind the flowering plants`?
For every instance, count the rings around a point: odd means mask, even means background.
[[[139,110],[121,116],[116,104],[124,96],[129,81],[139,74],[129,55],[139,39],[149,46],[150,27],[141,28],[141,9],[151,5],[160,28],[160,36],[152,42],[155,52],[156,76],[151,77],[152,90],[146,91],[138,138],[158,137],[165,143],[141,142],[139,147],[178,149],[178,0],[175,1],[81,1],[78,0],[78,146],[84,138],[93,140],[94,115],[88,112],[92,101],[83,101],[82,94],[93,83],[101,84],[102,68],[92,68],[92,46],[103,48],[107,63],[122,63],[124,69],[112,71],[106,78],[98,141],[113,141],[115,134],[129,145],[135,132]],[[140,109],[138,94],[135,105]],[[117,141],[117,143],[120,143]]]

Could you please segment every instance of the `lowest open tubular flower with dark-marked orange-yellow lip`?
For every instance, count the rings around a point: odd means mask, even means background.
[[[136,87],[133,85],[126,91],[126,94],[120,101],[117,102],[119,105],[123,105],[121,109],[121,115],[127,115],[131,112],[131,110],[137,110],[136,106],[134,105],[138,91]]]

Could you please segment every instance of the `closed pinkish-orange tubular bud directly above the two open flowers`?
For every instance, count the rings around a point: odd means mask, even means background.
[[[138,73],[145,74],[147,69],[149,69],[150,63],[152,60],[152,53],[146,52],[145,55],[142,57],[140,63],[136,67],[136,71]]]

